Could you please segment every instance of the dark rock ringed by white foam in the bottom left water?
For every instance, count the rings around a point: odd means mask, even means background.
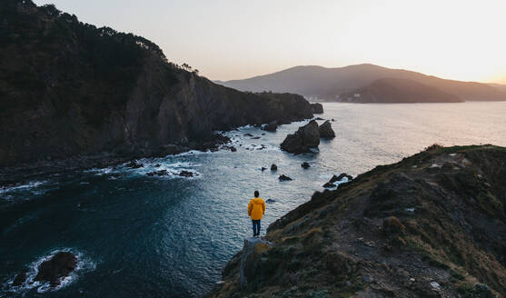
[[[77,258],[73,253],[58,252],[39,265],[34,281],[48,282],[55,287],[61,283],[63,277],[74,271],[76,264]]]

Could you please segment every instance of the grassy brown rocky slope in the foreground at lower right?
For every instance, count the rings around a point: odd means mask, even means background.
[[[378,166],[271,224],[209,295],[505,296],[505,181],[506,148],[492,145]]]

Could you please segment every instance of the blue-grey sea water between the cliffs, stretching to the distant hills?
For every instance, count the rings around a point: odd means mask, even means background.
[[[223,266],[252,232],[247,204],[258,190],[267,204],[262,233],[332,174],[360,174],[434,144],[506,146],[506,103],[323,104],[336,137],[313,154],[283,153],[298,126],[276,133],[253,127],[228,132],[237,152],[186,153],[30,184],[0,188],[0,296],[195,297],[218,282]],[[322,121],[319,121],[322,123]],[[259,139],[252,139],[253,134]],[[260,150],[260,148],[263,148]],[[301,163],[311,168],[304,170]],[[159,167],[155,167],[160,164]],[[278,165],[278,171],[270,168]],[[174,173],[149,177],[149,171]],[[187,170],[191,178],[178,177]],[[286,174],[293,181],[279,182]],[[77,270],[56,289],[13,287],[15,274],[58,250],[77,254]]]

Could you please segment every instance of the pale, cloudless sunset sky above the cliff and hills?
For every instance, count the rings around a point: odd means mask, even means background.
[[[372,63],[506,84],[506,0],[35,0],[213,80]]]

